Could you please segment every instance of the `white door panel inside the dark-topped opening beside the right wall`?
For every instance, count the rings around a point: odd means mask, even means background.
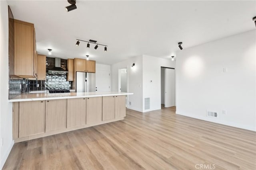
[[[164,80],[164,107],[172,107],[174,106],[174,69],[165,68]]]

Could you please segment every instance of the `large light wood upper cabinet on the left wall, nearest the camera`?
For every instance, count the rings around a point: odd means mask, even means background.
[[[35,48],[34,24],[14,20],[14,74],[16,76],[34,78]]]

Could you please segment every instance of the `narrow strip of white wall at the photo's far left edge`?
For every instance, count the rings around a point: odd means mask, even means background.
[[[12,103],[8,102],[8,5],[0,0],[0,169],[12,149]]]

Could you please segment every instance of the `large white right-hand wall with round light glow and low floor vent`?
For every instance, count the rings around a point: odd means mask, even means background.
[[[256,131],[255,30],[176,54],[177,114]]]

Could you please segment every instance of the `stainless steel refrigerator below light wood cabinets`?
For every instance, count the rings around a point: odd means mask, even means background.
[[[76,92],[95,92],[95,73],[76,72]]]

